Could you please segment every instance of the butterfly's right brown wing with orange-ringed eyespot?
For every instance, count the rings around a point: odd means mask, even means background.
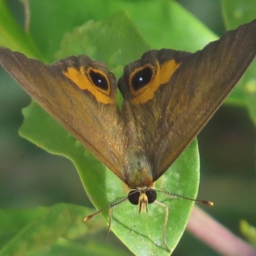
[[[188,147],[256,54],[256,20],[228,31],[202,51],[146,52],[118,86],[132,113],[136,144],[157,180]]]

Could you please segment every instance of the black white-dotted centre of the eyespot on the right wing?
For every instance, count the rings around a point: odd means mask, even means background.
[[[143,88],[145,85],[147,85],[150,80],[152,79],[152,69],[150,67],[145,67],[138,71],[133,77],[132,77],[132,87],[134,90],[140,90],[140,88]]]

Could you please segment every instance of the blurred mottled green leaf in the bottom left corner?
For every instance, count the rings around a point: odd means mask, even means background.
[[[28,255],[50,246],[60,237],[75,239],[97,232],[101,227],[95,225],[95,221],[84,225],[86,212],[84,207],[68,204],[29,210],[0,210],[1,234],[9,239],[12,237],[1,248],[0,255]]]

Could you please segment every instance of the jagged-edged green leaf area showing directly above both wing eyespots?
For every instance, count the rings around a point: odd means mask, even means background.
[[[108,63],[109,69],[120,77],[127,63],[138,60],[149,49],[127,13],[117,12],[107,20],[90,20],[66,33],[56,59],[86,52],[90,58]]]

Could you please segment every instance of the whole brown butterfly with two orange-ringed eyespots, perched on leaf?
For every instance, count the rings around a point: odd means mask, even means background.
[[[129,195],[121,201],[128,198],[140,211],[147,211],[147,205],[156,201],[154,182],[219,108],[255,54],[256,20],[195,53],[145,52],[124,68],[118,80],[124,96],[121,110],[115,76],[104,63],[88,56],[44,65],[1,48],[0,63],[129,186]],[[165,229],[164,243],[168,248]]]

